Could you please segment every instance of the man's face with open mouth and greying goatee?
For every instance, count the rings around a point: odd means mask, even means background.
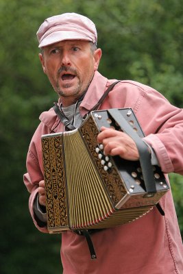
[[[88,41],[64,40],[44,47],[39,55],[43,71],[64,106],[75,103],[97,71],[101,50],[91,51]]]

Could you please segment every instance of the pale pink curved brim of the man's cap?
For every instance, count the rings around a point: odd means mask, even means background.
[[[48,36],[42,39],[40,42],[40,45],[38,47],[46,47],[49,45],[52,45],[56,42],[60,42],[63,40],[86,40],[86,41],[93,41],[92,38],[88,36],[84,36],[82,34],[79,34],[77,32],[71,32],[71,31],[58,31],[58,32],[52,32]]]

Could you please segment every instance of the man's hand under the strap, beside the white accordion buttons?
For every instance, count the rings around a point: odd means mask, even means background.
[[[103,145],[105,155],[119,155],[125,160],[139,160],[139,153],[134,140],[118,130],[101,127],[97,137],[99,144]]]

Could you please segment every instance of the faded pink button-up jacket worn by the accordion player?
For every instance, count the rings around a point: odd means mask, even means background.
[[[114,80],[95,73],[86,96],[80,105],[82,116],[99,101]],[[183,110],[175,108],[153,88],[132,81],[122,81],[110,92],[100,109],[132,108],[137,116],[145,141],[153,147],[164,173],[183,175]],[[34,224],[33,201],[38,182],[43,179],[40,136],[62,132],[64,127],[51,108],[40,115],[27,154],[25,186],[30,192],[29,210]],[[156,208],[142,218],[112,229],[104,229],[91,236],[97,260],[90,260],[86,240],[73,232],[62,234],[61,258],[65,274],[182,274],[183,247],[171,191],[162,197],[165,212]]]

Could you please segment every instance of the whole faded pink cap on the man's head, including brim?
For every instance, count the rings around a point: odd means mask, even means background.
[[[37,32],[38,47],[46,47],[62,40],[86,40],[97,44],[97,30],[93,21],[76,13],[49,17]]]

